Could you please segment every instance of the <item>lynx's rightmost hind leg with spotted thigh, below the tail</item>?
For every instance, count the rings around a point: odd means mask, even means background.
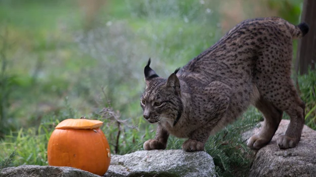
[[[281,32],[278,28],[275,32]],[[290,124],[285,135],[277,140],[281,149],[293,148],[300,141],[304,126],[305,106],[299,98],[291,79],[292,47],[291,37],[274,36],[262,49],[256,61],[256,83],[260,96],[290,116]]]

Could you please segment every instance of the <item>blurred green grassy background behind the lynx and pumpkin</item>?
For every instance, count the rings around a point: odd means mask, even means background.
[[[302,6],[302,0],[0,0],[0,139],[8,148],[0,158],[23,146],[19,136],[44,132],[47,143],[55,120],[65,118],[106,114],[115,130],[146,129],[139,97],[149,57],[167,77],[242,20],[280,16],[298,24]],[[296,40],[293,49],[294,63]],[[36,153],[21,150],[16,164],[35,163],[27,158]]]

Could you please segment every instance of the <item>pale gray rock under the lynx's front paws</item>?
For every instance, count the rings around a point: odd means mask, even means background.
[[[104,176],[215,176],[215,165],[206,152],[137,151],[113,155]]]

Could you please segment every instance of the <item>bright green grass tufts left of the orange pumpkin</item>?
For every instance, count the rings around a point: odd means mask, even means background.
[[[56,113],[44,115],[38,126],[20,128],[10,131],[5,140],[0,141],[0,161],[15,151],[14,166],[18,165],[48,165],[47,145],[55,126],[69,117],[77,117],[77,112],[71,109],[65,100],[65,109]]]

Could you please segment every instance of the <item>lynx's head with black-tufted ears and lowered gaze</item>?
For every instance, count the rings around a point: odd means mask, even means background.
[[[176,75],[180,68],[165,79],[149,65],[150,59],[144,69],[146,89],[140,98],[143,116],[150,123],[167,121],[175,126],[183,111],[180,81]]]

